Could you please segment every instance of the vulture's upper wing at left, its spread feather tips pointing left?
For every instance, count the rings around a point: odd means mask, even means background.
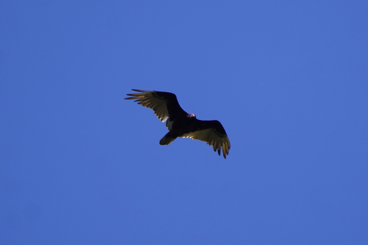
[[[132,97],[125,98],[125,100],[139,101],[139,105],[153,109],[161,122],[166,121],[167,118],[173,115],[184,112],[179,105],[176,95],[173,93],[138,89],[132,90],[141,92],[141,94],[127,94],[127,96]]]

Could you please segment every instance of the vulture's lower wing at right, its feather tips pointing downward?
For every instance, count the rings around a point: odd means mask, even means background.
[[[196,120],[193,131],[183,134],[181,137],[205,141],[208,145],[212,145],[213,151],[217,150],[219,155],[222,147],[222,154],[226,159],[226,155],[229,155],[230,141],[221,123],[217,120]]]

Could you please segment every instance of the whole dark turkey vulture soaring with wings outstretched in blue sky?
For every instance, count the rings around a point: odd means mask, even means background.
[[[168,145],[177,137],[191,138],[212,145],[213,151],[217,150],[219,155],[222,147],[225,159],[226,155],[229,155],[230,141],[219,121],[202,121],[195,118],[194,114],[188,114],[181,109],[176,95],[173,93],[132,90],[141,93],[127,94],[127,96],[132,97],[125,98],[125,100],[139,101],[139,105],[153,109],[161,122],[167,120],[166,127],[169,129],[169,133],[160,140],[160,145]]]

